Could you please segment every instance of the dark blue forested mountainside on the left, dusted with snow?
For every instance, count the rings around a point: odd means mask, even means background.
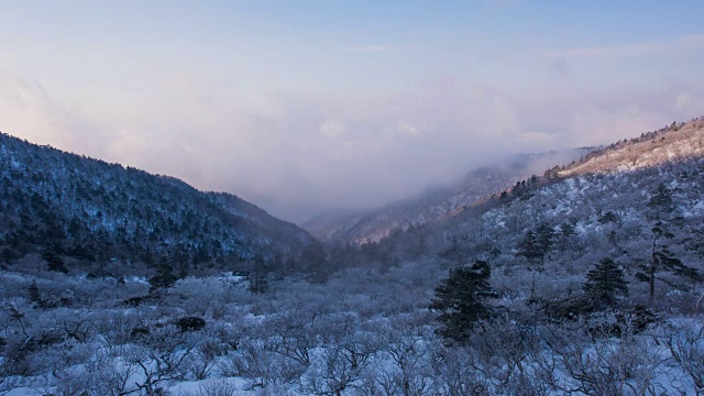
[[[234,195],[0,133],[2,265],[317,271],[318,251],[306,231]]]

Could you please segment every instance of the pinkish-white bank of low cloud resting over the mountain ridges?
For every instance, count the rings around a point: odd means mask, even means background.
[[[66,108],[37,84],[6,73],[0,129],[231,191],[301,222],[326,210],[371,208],[418,194],[514,152],[632,136],[690,116],[702,102],[696,91],[668,96],[658,108],[575,100],[535,113],[535,98],[528,102],[452,79],[376,95],[252,97],[224,84],[170,76],[131,97],[130,106],[96,112]],[[554,100],[543,95],[538,101]]]

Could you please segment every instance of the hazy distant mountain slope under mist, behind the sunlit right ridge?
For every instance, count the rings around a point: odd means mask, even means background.
[[[517,155],[510,161],[474,169],[444,188],[393,202],[366,212],[326,212],[301,224],[320,241],[339,244],[378,242],[396,229],[425,224],[452,216],[481,198],[502,191],[518,180],[556,164],[580,158],[594,147]]]

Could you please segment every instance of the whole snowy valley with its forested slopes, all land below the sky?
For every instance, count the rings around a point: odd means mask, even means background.
[[[704,119],[309,222],[324,241],[0,138],[0,394],[704,391]]]

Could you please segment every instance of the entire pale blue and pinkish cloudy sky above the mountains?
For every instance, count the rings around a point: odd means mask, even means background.
[[[704,1],[0,0],[0,131],[294,222],[704,114]]]

